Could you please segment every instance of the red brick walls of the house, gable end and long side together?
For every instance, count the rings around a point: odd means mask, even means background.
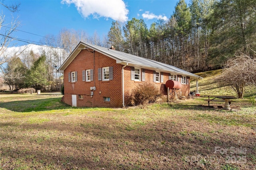
[[[89,50],[92,51],[92,49]],[[64,102],[72,105],[72,94],[76,94],[78,107],[122,107],[123,65],[116,64],[116,60],[96,51],[94,57],[94,53],[90,51],[88,51],[88,49],[82,50],[64,70]],[[113,80],[99,81],[98,68],[107,66],[113,66]],[[91,82],[82,81],[82,71],[87,69],[94,70],[94,80]],[[68,82],[68,72],[72,71],[77,71],[77,82]],[[161,94],[167,95],[165,82],[168,79],[168,73],[164,72],[164,82],[153,82],[153,70],[145,69],[145,82],[155,84]],[[124,91],[126,94],[130,93],[134,87],[143,82],[144,81],[138,82],[131,80],[131,67],[126,66],[124,68]],[[90,90],[90,87],[93,86],[96,87],[96,90]],[[182,85],[181,91],[183,92],[183,96],[188,96],[190,85]],[[94,93],[93,96],[90,95],[91,92]],[[78,95],[83,96],[83,99],[78,99]],[[110,102],[104,102],[104,97],[110,97]]]

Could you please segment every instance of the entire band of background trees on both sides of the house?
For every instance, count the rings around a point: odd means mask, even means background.
[[[144,20],[132,18],[112,22],[107,36],[90,36],[83,30],[62,29],[41,39],[40,53],[26,48],[4,54],[18,27],[12,22],[2,35],[0,68],[11,90],[60,88],[58,68],[79,41],[111,47],[140,57],[170,64],[190,72],[219,68],[229,58],[256,56],[256,0],[180,0],[168,21],[158,20],[148,28]],[[17,7],[18,8],[18,7]],[[5,27],[8,28],[8,27]]]

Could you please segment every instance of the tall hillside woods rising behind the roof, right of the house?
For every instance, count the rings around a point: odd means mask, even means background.
[[[131,53],[190,72],[220,67],[242,52],[255,56],[256,0],[180,0],[170,19],[147,28],[133,18],[125,25],[115,21],[109,42]]]

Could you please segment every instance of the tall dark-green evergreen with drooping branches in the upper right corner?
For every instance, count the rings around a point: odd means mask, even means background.
[[[218,56],[219,62],[237,52],[253,55],[250,48],[255,48],[256,12],[252,4],[256,4],[256,0],[250,3],[248,0],[220,0],[216,3],[211,20],[212,55]]]

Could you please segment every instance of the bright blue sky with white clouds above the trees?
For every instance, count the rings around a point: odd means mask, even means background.
[[[84,30],[91,36],[96,32],[102,38],[108,34],[112,21],[116,20],[126,23],[132,18],[143,19],[150,27],[158,18],[170,18],[177,2],[178,0],[5,0],[5,4],[20,3],[19,11],[11,13],[0,6],[0,12],[5,15],[4,25],[18,16],[20,26],[17,29],[20,31],[14,32],[12,37],[39,42],[43,38],[40,36],[58,35],[61,29]],[[188,4],[189,0],[186,2]],[[18,42],[16,46],[24,44],[26,43]]]

